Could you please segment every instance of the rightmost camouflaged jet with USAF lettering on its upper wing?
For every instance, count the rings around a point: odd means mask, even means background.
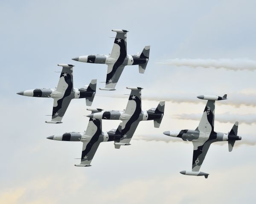
[[[208,173],[204,173],[199,170],[210,145],[213,142],[227,141],[229,151],[231,152],[236,140],[241,140],[241,137],[237,136],[238,122],[235,122],[235,125],[229,133],[219,133],[214,130],[215,101],[227,99],[227,94],[222,97],[207,95],[197,97],[198,99],[208,100],[198,127],[195,130],[166,131],[164,134],[172,137],[179,137],[184,141],[192,141],[194,145],[192,171],[181,171],[180,173],[184,175],[204,176],[205,178],[208,178]]]

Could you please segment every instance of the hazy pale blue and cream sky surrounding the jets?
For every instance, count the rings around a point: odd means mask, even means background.
[[[255,203],[256,71],[168,64],[184,58],[255,61],[255,1],[2,0],[0,8],[0,203]],[[97,89],[92,107],[122,110],[128,100],[123,94],[130,93],[125,87],[140,86],[143,110],[166,100],[165,116],[160,128],[141,122],[132,145],[118,150],[113,142],[102,143],[92,167],[75,167],[82,143],[46,137],[85,130],[85,100],[73,100],[63,123],[55,125],[44,123],[52,99],[15,93],[54,88],[58,63],[75,65],[75,88],[105,81],[107,65],[71,58],[110,53],[114,28],[130,31],[128,54],[151,45],[150,59],[145,74],[125,67],[116,91]],[[243,139],[231,153],[225,142],[210,147],[201,167],[208,179],[181,175],[191,169],[193,145],[163,135],[197,127],[206,101],[196,96],[203,94],[227,94],[228,100],[216,102],[215,130],[228,132],[238,120]],[[103,121],[103,130],[119,122]]]

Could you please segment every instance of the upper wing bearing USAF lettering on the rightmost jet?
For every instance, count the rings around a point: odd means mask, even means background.
[[[211,133],[214,131],[214,111],[215,101],[208,100],[197,130],[204,133]]]

